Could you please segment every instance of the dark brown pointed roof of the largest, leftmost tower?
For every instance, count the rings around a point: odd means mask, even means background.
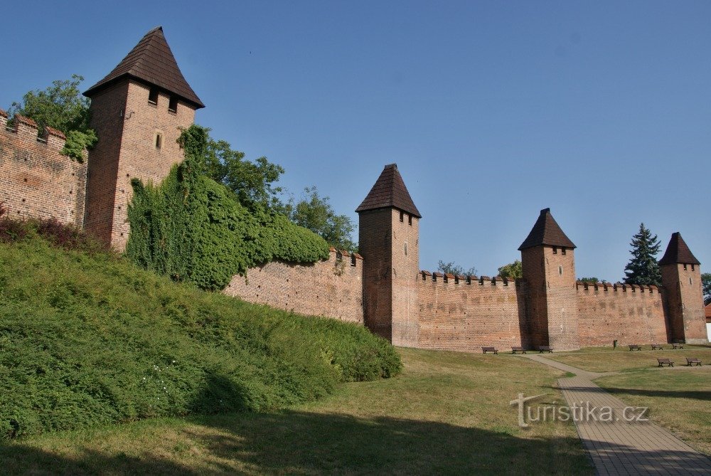
[[[205,107],[193,88],[183,78],[171,47],[163,35],[163,27],[153,28],[126,55],[106,78],[89,88],[84,95],[92,97],[122,78],[134,78],[158,86],[190,102],[197,109]]]

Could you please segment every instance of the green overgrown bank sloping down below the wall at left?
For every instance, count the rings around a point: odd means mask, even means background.
[[[0,243],[0,438],[266,410],[395,374],[383,339],[176,285],[110,255]]]

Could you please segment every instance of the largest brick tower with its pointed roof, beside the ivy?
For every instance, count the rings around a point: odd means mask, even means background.
[[[129,236],[131,179],[159,183],[181,162],[179,127],[205,107],[188,85],[160,26],[84,93],[99,142],[89,156],[85,228],[117,250]]]

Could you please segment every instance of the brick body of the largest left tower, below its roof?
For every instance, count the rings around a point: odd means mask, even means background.
[[[195,120],[195,109],[185,102],[178,102],[173,113],[168,95],[161,92],[156,105],[148,95],[148,86],[127,80],[92,97],[92,127],[99,142],[89,157],[86,223],[117,250],[125,248],[129,236],[131,179],[160,183],[184,158],[176,143],[180,127]]]

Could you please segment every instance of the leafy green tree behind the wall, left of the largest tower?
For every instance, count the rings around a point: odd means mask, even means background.
[[[68,80],[56,80],[46,90],[27,92],[21,102],[13,102],[10,114],[31,118],[40,127],[54,127],[67,137],[62,153],[82,162],[84,149],[91,149],[98,138],[89,125],[89,98],[82,96],[79,85],[84,80],[72,75]]]

